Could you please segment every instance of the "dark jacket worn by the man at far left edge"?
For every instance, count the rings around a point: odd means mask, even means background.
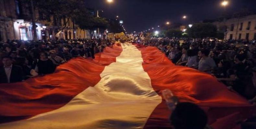
[[[22,68],[17,65],[12,65],[10,75],[10,83],[20,82],[23,79]],[[4,66],[0,67],[0,83],[8,83]]]

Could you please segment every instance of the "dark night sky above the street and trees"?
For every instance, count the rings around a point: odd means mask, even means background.
[[[224,12],[220,5],[223,0],[86,0],[87,7],[104,10],[100,16],[124,21],[127,32],[143,31],[166,21],[198,22],[204,19],[216,19]],[[227,13],[248,8],[256,13],[256,0],[228,0]],[[182,15],[187,15],[186,21]]]

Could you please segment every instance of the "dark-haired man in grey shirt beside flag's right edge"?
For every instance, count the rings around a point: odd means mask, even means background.
[[[206,72],[208,74],[212,73],[212,70],[216,67],[215,61],[208,57],[210,51],[207,49],[203,49],[199,52],[199,56],[201,57],[198,63],[198,70],[201,72]]]

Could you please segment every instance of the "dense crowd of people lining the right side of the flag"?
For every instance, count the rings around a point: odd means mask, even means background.
[[[155,46],[176,65],[211,74],[244,97],[255,102],[256,45],[255,40],[217,39],[153,39],[137,42]]]

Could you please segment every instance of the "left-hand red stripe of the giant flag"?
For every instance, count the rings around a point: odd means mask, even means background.
[[[78,57],[57,67],[54,74],[0,84],[0,123],[27,119],[64,106],[87,87],[96,85],[104,67],[115,62],[121,52],[121,45],[106,47],[95,55],[95,60]]]

